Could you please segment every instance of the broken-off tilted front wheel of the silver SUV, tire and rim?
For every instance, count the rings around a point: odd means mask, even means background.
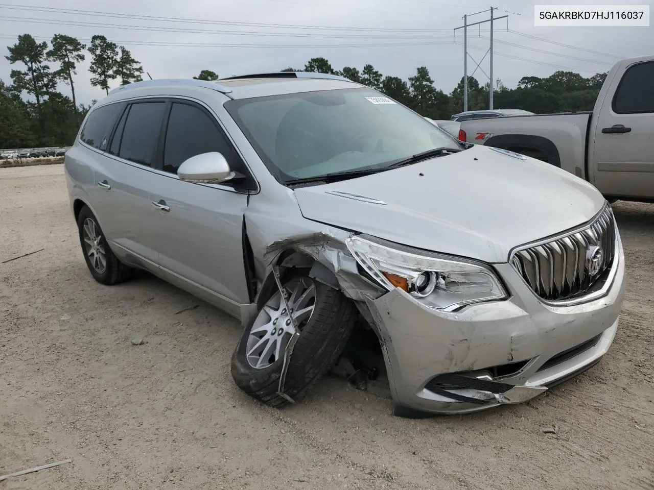
[[[288,361],[284,393],[301,400],[336,363],[356,321],[356,306],[340,291],[304,274],[284,280],[290,314],[298,325],[298,338]],[[232,355],[232,377],[245,393],[269,406],[281,408],[279,378],[284,351],[294,333],[277,288],[250,322]]]

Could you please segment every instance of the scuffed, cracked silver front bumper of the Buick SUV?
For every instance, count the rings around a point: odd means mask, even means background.
[[[396,414],[464,414],[521,403],[592,367],[617,331],[625,292],[622,252],[617,259],[608,294],[576,306],[544,304],[508,264],[496,266],[512,293],[506,301],[449,313],[402,289],[366,299]]]

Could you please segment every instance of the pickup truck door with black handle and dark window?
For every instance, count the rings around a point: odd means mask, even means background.
[[[594,126],[594,184],[605,195],[654,193],[654,61],[627,68]]]

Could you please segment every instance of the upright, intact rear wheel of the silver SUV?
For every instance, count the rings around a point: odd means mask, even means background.
[[[97,282],[111,286],[131,278],[134,270],[118,260],[111,251],[105,234],[97,223],[97,218],[88,206],[82,206],[77,218],[77,228],[84,261]],[[90,238],[90,235],[94,235],[95,240],[93,237]],[[95,246],[90,242],[95,242]],[[93,249],[94,253],[90,253],[90,249]],[[98,267],[102,265],[102,257],[104,257],[104,267]]]

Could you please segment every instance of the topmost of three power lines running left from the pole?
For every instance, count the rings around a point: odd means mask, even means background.
[[[97,10],[80,10],[77,8],[59,8],[59,7],[23,7],[21,5],[0,4],[0,8],[10,10],[28,10],[33,12],[49,12],[58,14],[72,14],[95,17],[112,17],[128,18],[135,20],[151,20],[157,22],[175,22],[176,24],[210,24],[210,25],[233,25],[240,27],[266,27],[266,28],[283,28],[283,29],[320,29],[328,31],[375,31],[375,32],[415,32],[415,33],[451,33],[451,29],[400,29],[385,27],[345,27],[345,26],[327,26],[327,25],[303,25],[303,24],[270,24],[267,22],[235,22],[230,20],[205,20],[176,17],[162,17],[138,14],[121,14],[118,12],[99,12]],[[75,22],[75,21],[73,21]]]

